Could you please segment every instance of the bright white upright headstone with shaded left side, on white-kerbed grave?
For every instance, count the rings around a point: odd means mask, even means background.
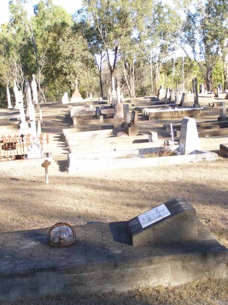
[[[180,155],[188,155],[194,150],[200,149],[200,141],[197,132],[195,118],[184,117],[180,126]]]

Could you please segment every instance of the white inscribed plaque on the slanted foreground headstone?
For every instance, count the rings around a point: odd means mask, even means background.
[[[167,216],[171,215],[170,211],[163,203],[155,208],[152,208],[149,211],[144,212],[143,214],[138,216],[138,220],[142,226],[145,228]]]

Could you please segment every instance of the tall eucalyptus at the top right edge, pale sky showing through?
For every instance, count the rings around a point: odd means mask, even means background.
[[[223,0],[194,0],[184,6],[184,45],[192,47],[194,59],[204,60],[207,90],[213,89],[212,73],[227,38],[226,3]],[[185,47],[183,48],[186,52]]]

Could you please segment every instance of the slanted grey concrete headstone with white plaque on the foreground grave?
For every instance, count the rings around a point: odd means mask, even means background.
[[[197,241],[195,208],[184,198],[174,198],[131,219],[128,231],[133,246]]]

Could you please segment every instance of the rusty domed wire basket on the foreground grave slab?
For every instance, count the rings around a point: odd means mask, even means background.
[[[67,223],[57,223],[48,232],[48,244],[50,246],[66,247],[76,242],[75,230]]]

